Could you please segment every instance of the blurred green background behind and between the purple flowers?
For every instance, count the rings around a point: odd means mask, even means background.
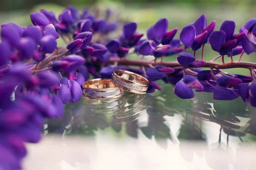
[[[244,23],[256,18],[255,0],[1,0],[0,3],[0,24],[14,22],[21,26],[31,24],[29,14],[32,11],[39,11],[41,8],[55,11],[56,15],[67,5],[73,5],[78,9],[99,6],[102,9],[115,9],[116,16],[122,20],[138,23],[137,31],[146,33],[147,29],[160,18],[169,20],[169,30],[192,23],[201,14],[207,17],[207,23],[216,21],[215,30],[218,30],[224,20],[234,20],[236,22],[236,33],[239,32]],[[178,31],[179,34],[180,31]],[[179,37],[179,35],[176,37]],[[201,55],[201,50],[197,51],[197,58]],[[211,60],[218,56],[212,51],[210,45],[205,47],[205,58]],[[234,59],[238,59],[235,56]],[[166,61],[175,60],[176,57],[166,57]],[[220,60],[217,60],[220,61]],[[229,58],[225,58],[228,62]],[[246,54],[242,61],[256,62],[256,54]],[[237,74],[247,74],[246,69],[227,70]]]

